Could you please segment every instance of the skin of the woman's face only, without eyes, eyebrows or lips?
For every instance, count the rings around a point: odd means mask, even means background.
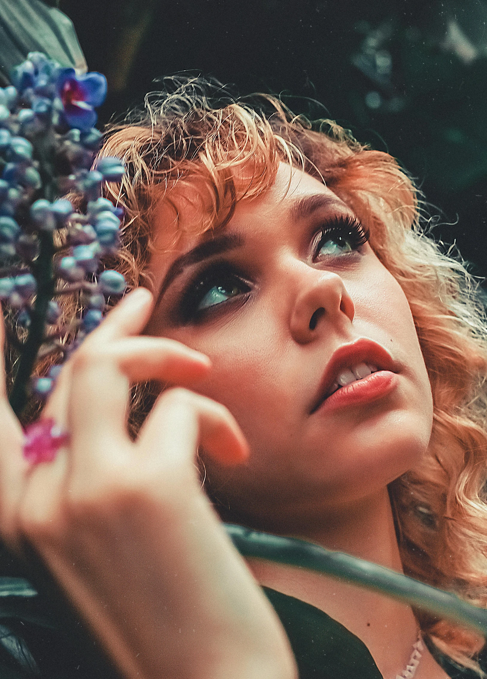
[[[178,323],[180,293],[195,275],[196,267],[189,267],[165,292],[147,327],[151,335],[177,339],[210,357],[213,369],[195,390],[229,408],[251,449],[248,464],[230,474],[205,461],[211,488],[235,515],[272,530],[288,528],[290,517],[300,530],[322,511],[384,488],[424,454],[432,422],[427,371],[402,289],[368,244],[313,262],[317,230],[335,215],[353,213],[313,177],[296,170],[289,188],[288,180],[282,164],[275,186],[237,205],[225,229],[246,239],[220,257],[252,280],[245,303],[235,297],[199,323]],[[294,221],[292,203],[316,194],[334,200]],[[182,249],[196,241],[187,239]],[[153,257],[156,289],[171,261],[165,253]],[[324,314],[311,331],[311,316],[320,308]],[[310,415],[333,352],[359,337],[391,354],[397,388],[373,404]]]

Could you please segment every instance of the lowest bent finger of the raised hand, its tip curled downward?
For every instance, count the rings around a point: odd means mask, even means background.
[[[221,464],[239,464],[249,455],[248,443],[227,408],[182,388],[161,394],[136,445],[176,464],[193,462],[199,445]]]

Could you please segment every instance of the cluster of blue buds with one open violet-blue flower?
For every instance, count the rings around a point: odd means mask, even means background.
[[[92,168],[102,138],[94,128],[94,108],[104,100],[106,80],[100,73],[78,75],[31,52],[13,69],[11,81],[12,86],[0,88],[0,262],[16,275],[0,278],[0,299],[16,310],[17,325],[28,331],[35,322],[35,295],[41,294],[36,273],[41,240],[62,229],[70,252],[57,261],[55,276],[83,291],[86,308],[77,346],[101,322],[105,298],[125,290],[118,272],[97,276],[100,258],[119,248],[123,218],[121,208],[102,198],[104,183],[123,177],[123,163],[105,157]],[[59,166],[62,177],[56,175]],[[83,194],[86,214],[77,213],[69,200],[52,200],[56,191],[70,189]],[[59,318],[60,308],[51,299],[43,323],[54,325]],[[37,395],[52,389],[58,367],[51,372],[34,381]]]

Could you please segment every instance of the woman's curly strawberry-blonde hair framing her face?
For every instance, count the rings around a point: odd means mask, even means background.
[[[233,99],[203,79],[169,82],[137,115],[111,126],[100,152],[127,168],[121,184],[107,188],[126,211],[123,248],[107,265],[130,288],[147,285],[157,205],[172,204],[180,232],[187,228],[172,203],[175,185],[198,180],[203,233],[225,225],[239,200],[266,191],[281,161],[326,183],[370,230],[372,249],[404,290],[431,382],[427,455],[389,487],[404,570],[486,606],[487,323],[475,279],[428,235],[418,191],[391,155],[330,120],[296,117],[272,96]],[[149,402],[139,386],[134,433]],[[419,612],[418,619],[440,650],[482,674],[475,654],[483,638]]]

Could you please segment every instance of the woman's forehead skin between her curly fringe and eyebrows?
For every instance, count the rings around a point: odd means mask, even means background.
[[[283,234],[286,226],[292,228],[294,225],[296,218],[293,208],[298,206],[300,199],[309,196],[326,198],[330,210],[349,209],[324,183],[303,170],[290,168],[287,163],[281,162],[272,187],[257,198],[239,201],[223,230],[237,231],[245,237],[279,228]],[[197,185],[193,189],[185,186],[184,191],[178,191],[176,187],[171,198],[173,205],[167,202],[161,204],[154,219],[154,251],[149,268],[153,274],[157,272],[158,280],[177,257],[201,242],[211,240],[216,233],[210,230],[202,235],[194,235],[201,224],[202,210],[205,209]],[[178,216],[174,207],[177,208]]]

